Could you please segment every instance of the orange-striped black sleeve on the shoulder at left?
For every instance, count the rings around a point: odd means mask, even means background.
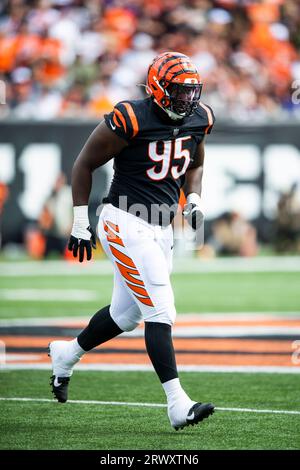
[[[138,134],[138,119],[128,101],[116,104],[111,113],[104,115],[104,120],[109,129],[127,142]]]

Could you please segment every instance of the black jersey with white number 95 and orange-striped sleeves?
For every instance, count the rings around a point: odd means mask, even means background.
[[[151,98],[118,103],[104,116],[109,129],[128,142],[114,158],[108,197],[120,209],[149,223],[168,225],[177,212],[186,170],[197,145],[211,132],[214,115],[200,103],[195,113],[177,123]]]

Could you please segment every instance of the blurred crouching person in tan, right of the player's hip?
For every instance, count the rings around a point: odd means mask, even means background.
[[[212,236],[200,256],[255,256],[258,252],[256,230],[236,212],[226,212],[212,225]]]

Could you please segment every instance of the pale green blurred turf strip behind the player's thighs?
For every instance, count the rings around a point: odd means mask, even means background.
[[[293,312],[300,305],[300,272],[173,274],[177,311]],[[0,318],[90,315],[110,302],[112,277],[30,276],[1,277],[1,290],[52,290],[53,299],[0,299]],[[88,291],[92,300],[61,301],[55,291]],[[57,293],[59,295],[59,292]]]

